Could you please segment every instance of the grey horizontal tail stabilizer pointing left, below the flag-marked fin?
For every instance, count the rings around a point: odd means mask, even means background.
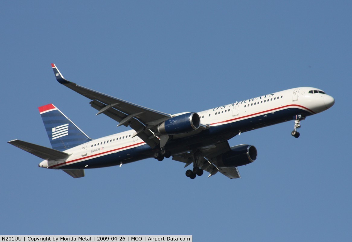
[[[70,156],[68,153],[28,143],[18,139],[8,141],[7,143],[14,145],[24,151],[31,153],[32,155],[38,156],[39,158],[42,158],[47,161],[65,159]]]

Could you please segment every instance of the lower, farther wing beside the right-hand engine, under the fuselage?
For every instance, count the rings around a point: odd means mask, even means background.
[[[199,168],[210,173],[208,177],[220,172],[221,174],[227,176],[230,179],[240,178],[241,176],[238,172],[237,167],[217,167],[217,157],[227,151],[230,151],[230,145],[227,141],[225,141],[220,144],[203,147],[198,153],[192,154],[190,152],[186,152],[173,156],[172,159],[174,161],[186,163],[184,167],[187,167],[189,164],[192,164],[194,159],[196,159],[196,165]]]

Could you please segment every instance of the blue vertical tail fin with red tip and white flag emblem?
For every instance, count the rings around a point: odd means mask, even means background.
[[[52,149],[64,151],[92,140],[53,104],[38,109]]]

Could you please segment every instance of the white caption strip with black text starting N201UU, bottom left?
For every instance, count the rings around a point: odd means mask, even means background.
[[[192,242],[192,235],[0,235],[0,241],[19,242],[69,242],[69,241],[188,241]]]

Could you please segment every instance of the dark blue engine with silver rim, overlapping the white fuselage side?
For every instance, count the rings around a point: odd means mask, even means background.
[[[197,113],[187,113],[164,121],[158,126],[158,131],[161,134],[183,134],[199,127],[199,115]]]

